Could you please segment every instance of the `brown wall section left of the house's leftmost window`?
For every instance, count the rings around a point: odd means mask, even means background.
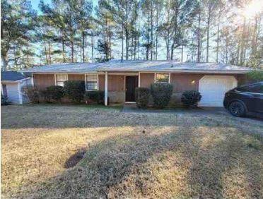
[[[54,74],[34,74],[34,85],[37,88],[46,88],[50,85],[55,85]]]

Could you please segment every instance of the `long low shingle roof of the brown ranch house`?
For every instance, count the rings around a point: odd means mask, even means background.
[[[23,72],[30,73],[95,73],[97,71],[164,71],[164,72],[217,72],[247,73],[250,68],[217,63],[180,63],[176,61],[109,61],[99,64],[64,63],[37,66]]]

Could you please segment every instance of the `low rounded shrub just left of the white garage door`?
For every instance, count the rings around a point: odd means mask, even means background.
[[[200,100],[200,92],[196,90],[186,90],[182,93],[181,102],[185,107],[197,107],[197,102]]]

